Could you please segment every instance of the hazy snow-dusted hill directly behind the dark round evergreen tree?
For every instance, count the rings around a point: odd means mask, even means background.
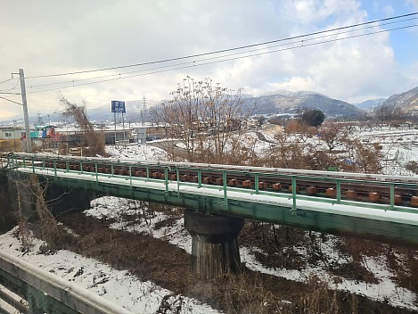
[[[268,95],[260,95],[243,99],[246,106],[255,107],[255,114],[294,113],[301,109],[314,109],[324,112],[328,118],[359,117],[364,111],[351,103],[333,99],[315,92],[277,91]]]

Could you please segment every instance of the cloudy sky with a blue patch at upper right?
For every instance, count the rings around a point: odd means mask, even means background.
[[[44,116],[61,110],[60,95],[109,110],[111,100],[169,99],[187,75],[250,95],[311,90],[350,103],[418,86],[418,14],[324,32],[418,12],[418,0],[0,4],[0,120],[21,115],[8,101],[21,103],[18,76],[10,79],[19,69],[29,114]],[[272,43],[255,45],[265,42]],[[253,46],[206,54],[246,45]],[[198,56],[182,58],[191,55]],[[116,69],[102,70],[109,68]]]

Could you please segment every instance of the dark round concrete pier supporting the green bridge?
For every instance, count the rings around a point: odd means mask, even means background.
[[[241,271],[237,236],[244,219],[186,209],[184,227],[192,235],[192,273],[209,279]]]

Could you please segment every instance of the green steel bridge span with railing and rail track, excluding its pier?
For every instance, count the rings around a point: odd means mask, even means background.
[[[12,153],[50,183],[208,214],[418,244],[414,177]]]

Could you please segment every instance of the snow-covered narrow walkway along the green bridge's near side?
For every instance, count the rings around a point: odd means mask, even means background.
[[[101,173],[89,173],[78,171],[67,171],[63,169],[40,169],[20,168],[21,172],[36,173],[47,177],[70,178],[80,181],[94,183],[106,183],[115,186],[133,186],[143,189],[153,189],[161,192],[171,192],[176,194],[193,194],[214,197],[219,200],[234,200],[242,202],[252,202],[257,204],[267,204],[292,210],[293,195],[282,193],[255,193],[255,190],[242,189],[227,186],[199,186],[197,183],[184,183],[168,180],[167,183],[160,179],[150,178],[127,178],[125,176],[107,176]],[[225,193],[226,192],[226,193]],[[364,219],[375,219],[389,222],[397,222],[405,225],[418,226],[418,210],[396,206],[396,209],[376,209],[367,202],[351,202],[350,204],[339,204],[330,202],[330,199],[316,196],[296,195],[296,208],[299,210],[316,211],[357,217]]]

